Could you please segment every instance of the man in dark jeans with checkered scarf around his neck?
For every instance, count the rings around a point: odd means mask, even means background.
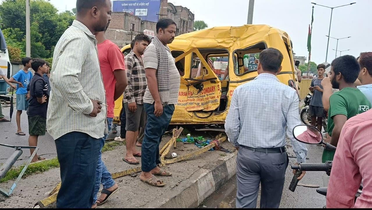
[[[173,41],[175,32],[176,23],[173,20],[160,19],[156,23],[157,35],[145,49],[143,57],[147,78],[147,88],[143,97],[147,124],[142,142],[140,180],[156,187],[163,187],[165,184],[154,175],[172,175],[159,168],[157,164],[160,164],[161,137],[169,126],[180,88],[180,74],[167,46]]]

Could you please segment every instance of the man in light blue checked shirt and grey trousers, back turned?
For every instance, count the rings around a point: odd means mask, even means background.
[[[297,162],[306,160],[306,146],[292,135],[293,128],[302,124],[296,90],[276,77],[282,61],[279,50],[263,50],[257,66],[259,75],[237,87],[232,95],[225,132],[238,148],[237,208],[256,207],[260,182],[261,208],[279,207],[288,166],[286,133]]]

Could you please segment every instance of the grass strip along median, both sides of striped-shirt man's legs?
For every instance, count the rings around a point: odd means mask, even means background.
[[[125,145],[125,142],[113,141],[113,142],[105,143],[105,146],[103,146],[103,148],[102,148],[102,152],[114,150],[116,146],[121,146],[121,145]],[[16,179],[19,176],[19,174],[21,173],[23,167],[25,167],[25,165],[21,165],[21,166],[18,166],[18,167],[12,167],[6,173],[5,177],[0,180],[0,183]],[[39,174],[39,173],[42,173],[44,171],[48,171],[52,168],[58,168],[58,167],[60,167],[60,163],[58,162],[57,157],[52,158],[50,160],[35,162],[35,163],[30,164],[28,166],[28,168],[26,169],[23,176],[31,175],[31,174]]]

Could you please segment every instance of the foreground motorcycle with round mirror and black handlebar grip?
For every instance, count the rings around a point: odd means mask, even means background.
[[[308,132],[312,132],[313,135],[310,135]],[[298,125],[294,127],[293,136],[296,140],[302,143],[306,144],[319,144],[322,143],[325,145],[326,150],[329,151],[336,151],[336,147],[331,145],[330,143],[326,143],[323,141],[323,135],[321,132],[314,126],[311,125]],[[316,137],[314,137],[316,136]],[[333,161],[326,161],[324,163],[312,163],[312,164],[298,164],[298,165],[291,165],[292,169],[295,169],[296,172],[292,178],[291,184],[289,185],[289,190],[292,192],[295,191],[297,183],[298,183],[298,177],[301,175],[301,171],[325,171],[328,176],[331,175],[331,169],[332,169],[332,162]],[[363,190],[363,181],[360,183],[359,190],[357,190],[355,194],[355,200],[356,198],[362,194]],[[327,187],[320,187],[317,188],[317,193],[327,196]],[[323,207],[325,208],[325,206]]]

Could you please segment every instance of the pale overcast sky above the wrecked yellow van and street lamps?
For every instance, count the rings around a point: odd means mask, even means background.
[[[50,0],[58,10],[71,10],[76,0]],[[209,27],[240,26],[247,23],[248,0],[168,0],[175,6],[182,5],[195,14],[195,20],[204,20]],[[331,33],[339,40],[338,50],[342,55],[359,56],[360,52],[372,51],[371,0],[256,0],[253,24],[267,24],[286,31],[291,36],[296,56],[307,56],[308,25],[311,22],[311,7],[315,2],[336,7],[356,2],[356,4],[333,10]],[[311,60],[317,64],[325,61],[327,37],[331,9],[314,5],[312,27]],[[336,39],[330,39],[328,60],[336,54]],[[337,56],[340,52],[337,52]]]

